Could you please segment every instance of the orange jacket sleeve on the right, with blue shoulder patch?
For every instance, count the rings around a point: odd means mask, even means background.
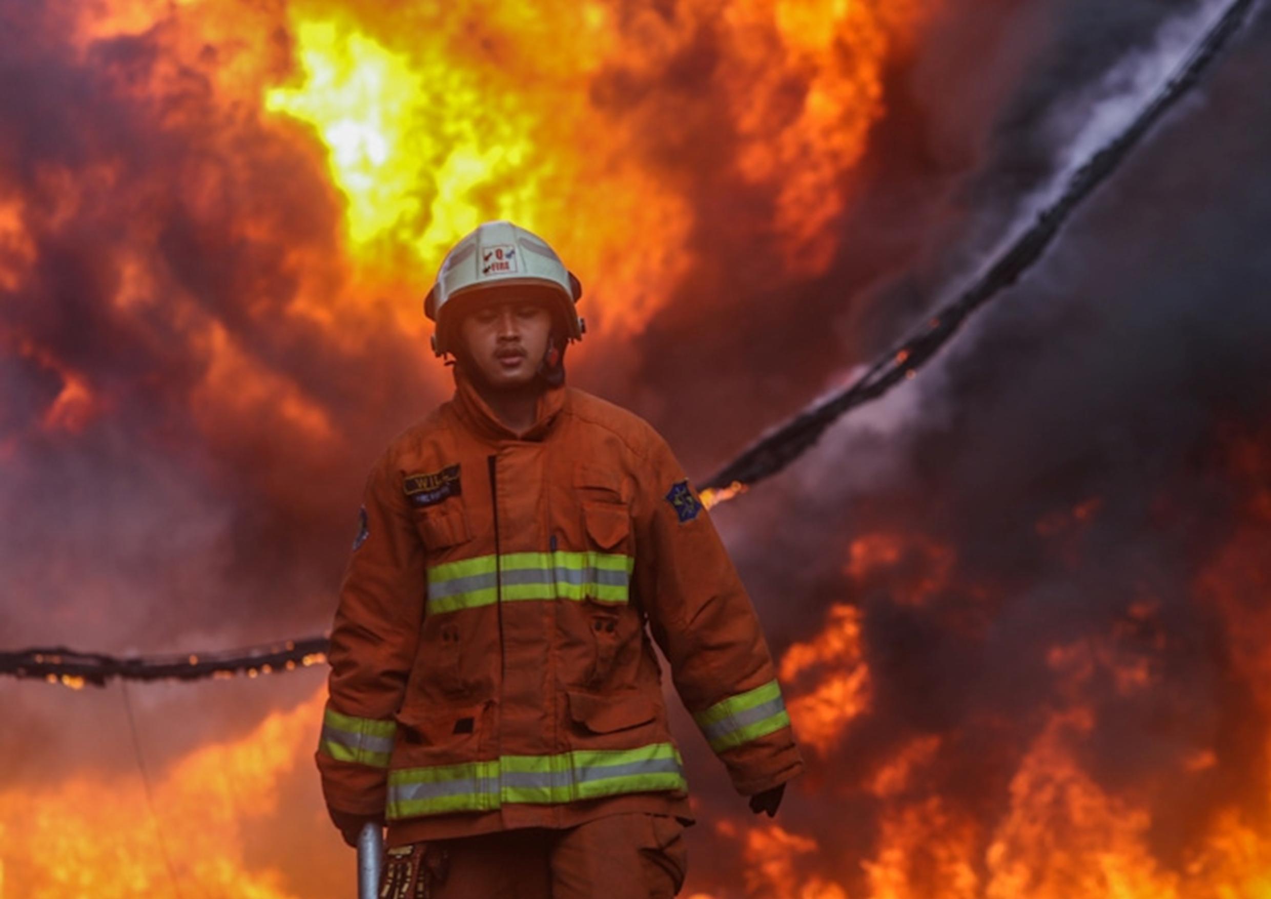
[[[666,441],[649,429],[634,509],[636,594],[675,689],[751,796],[803,769],[755,608]]]

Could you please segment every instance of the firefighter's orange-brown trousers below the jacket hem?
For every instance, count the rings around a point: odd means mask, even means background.
[[[628,813],[389,849],[380,899],[670,899],[686,862],[675,818]]]

